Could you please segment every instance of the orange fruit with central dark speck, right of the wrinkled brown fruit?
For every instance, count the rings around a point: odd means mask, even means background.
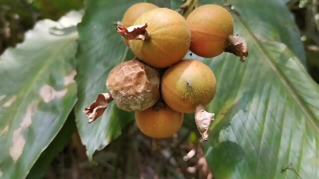
[[[208,66],[198,60],[182,60],[168,68],[161,82],[166,104],[178,112],[194,112],[216,94],[216,79]]]

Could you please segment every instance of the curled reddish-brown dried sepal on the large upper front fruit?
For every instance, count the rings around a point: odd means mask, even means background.
[[[127,40],[147,40],[149,38],[146,30],[147,27],[147,23],[144,25],[133,25],[128,28],[121,24],[116,29]]]

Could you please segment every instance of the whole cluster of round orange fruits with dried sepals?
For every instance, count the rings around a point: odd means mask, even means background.
[[[186,18],[152,3],[137,3],[124,14],[117,31],[136,55],[115,67],[106,86],[85,109],[90,121],[104,112],[113,99],[119,108],[135,111],[140,130],[153,138],[173,135],[183,113],[195,112],[197,128],[204,140],[214,114],[204,110],[215,96],[216,79],[198,60],[182,60],[188,50],[202,57],[215,57],[233,48],[233,19],[223,7],[199,6]],[[231,51],[231,50],[230,50]],[[232,52],[235,54],[235,52]]]

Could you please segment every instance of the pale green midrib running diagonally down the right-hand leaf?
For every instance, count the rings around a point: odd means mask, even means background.
[[[315,126],[315,129],[317,132],[319,132],[319,122],[316,120],[316,117],[314,113],[304,105],[303,99],[298,95],[296,89],[292,87],[292,85],[289,83],[285,75],[283,75],[280,70],[276,67],[275,63],[271,60],[271,58],[267,55],[266,50],[262,47],[262,45],[259,43],[259,40],[256,38],[256,36],[252,33],[252,31],[248,28],[248,26],[243,22],[241,17],[239,17],[237,14],[233,15],[234,18],[237,19],[238,22],[241,23],[241,25],[245,28],[245,30],[248,32],[248,34],[251,35],[253,42],[255,43],[255,47],[258,48],[258,50],[262,53],[262,55],[265,57],[264,59],[270,66],[270,68],[275,72],[275,74],[279,77],[280,81],[283,83],[283,85],[286,87],[286,89],[289,91],[289,93],[292,95],[292,97],[295,99],[296,103],[299,105],[299,107],[302,109],[304,114],[307,118],[310,119],[310,122]]]

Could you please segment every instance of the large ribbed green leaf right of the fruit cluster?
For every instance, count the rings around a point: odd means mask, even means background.
[[[216,179],[298,179],[293,170],[303,179],[318,179],[319,86],[297,55],[276,42],[298,51],[294,44],[300,40],[289,39],[291,25],[283,26],[283,4],[249,2],[246,7],[232,1],[241,15],[233,13],[235,33],[248,43],[246,62],[231,54],[204,60],[218,87],[207,106],[216,114],[210,140],[202,143],[207,162]],[[286,167],[291,170],[282,171]]]

